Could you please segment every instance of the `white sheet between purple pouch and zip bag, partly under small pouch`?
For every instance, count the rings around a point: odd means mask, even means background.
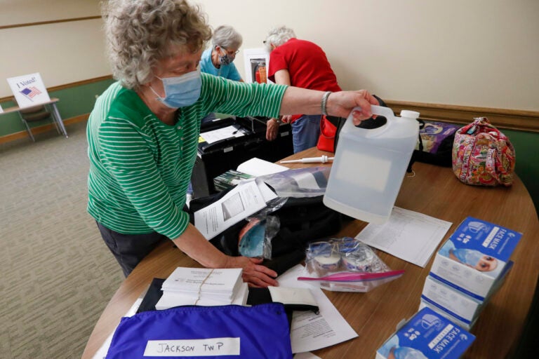
[[[320,309],[319,314],[312,311],[293,313],[290,329],[292,353],[315,351],[357,337],[357,333],[320,288],[297,279],[302,271],[303,267],[298,264],[277,278],[283,287],[309,288]]]

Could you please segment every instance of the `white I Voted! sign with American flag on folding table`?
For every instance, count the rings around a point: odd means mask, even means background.
[[[32,107],[51,101],[48,97],[47,89],[41,80],[39,72],[16,77],[10,77],[9,87],[15,96],[19,107]]]

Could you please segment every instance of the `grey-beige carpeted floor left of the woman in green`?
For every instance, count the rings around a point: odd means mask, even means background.
[[[1,358],[80,358],[124,280],[86,212],[85,130],[0,144]]]

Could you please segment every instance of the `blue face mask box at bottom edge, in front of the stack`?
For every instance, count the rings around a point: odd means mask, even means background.
[[[430,308],[423,308],[376,351],[375,359],[456,359],[475,337]]]

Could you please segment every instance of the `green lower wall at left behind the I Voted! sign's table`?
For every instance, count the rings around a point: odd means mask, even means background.
[[[103,81],[86,83],[81,86],[72,88],[64,88],[58,91],[48,93],[50,97],[58,97],[60,101],[57,103],[58,112],[65,121],[68,118],[88,114],[93,109],[95,103],[95,95],[100,95],[109,85],[114,82],[112,79]],[[16,104],[13,101],[2,102],[3,109],[13,107]],[[30,123],[31,127],[42,126],[51,121],[44,120],[35,123]],[[3,114],[0,116],[0,136],[10,135],[25,131],[26,128],[20,121],[18,113]]]

